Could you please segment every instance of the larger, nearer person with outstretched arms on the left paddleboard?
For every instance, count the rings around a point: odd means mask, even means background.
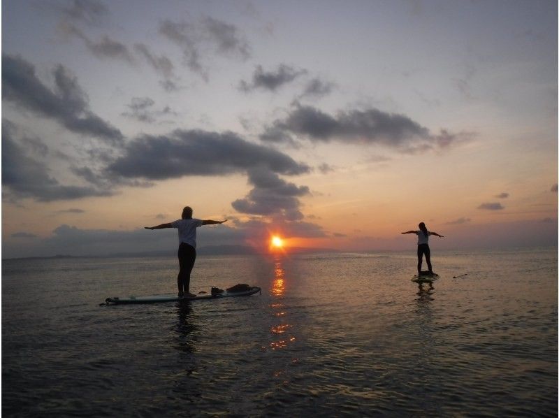
[[[194,298],[196,295],[191,294],[190,288],[190,273],[194,268],[196,261],[196,228],[202,225],[215,225],[223,224],[224,221],[212,221],[211,219],[192,219],[192,208],[186,206],[182,210],[181,219],[177,219],[170,224],[161,224],[157,226],[145,226],[145,229],[165,229],[176,228],[179,231],[179,275],[177,277],[177,285],[179,288],[179,297]]]

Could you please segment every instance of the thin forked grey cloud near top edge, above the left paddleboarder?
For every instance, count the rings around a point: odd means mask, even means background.
[[[159,34],[182,48],[187,67],[206,81],[208,70],[203,65],[203,59],[209,50],[242,60],[250,55],[250,46],[239,29],[213,17],[204,17],[198,22],[167,19],[159,24]]]

